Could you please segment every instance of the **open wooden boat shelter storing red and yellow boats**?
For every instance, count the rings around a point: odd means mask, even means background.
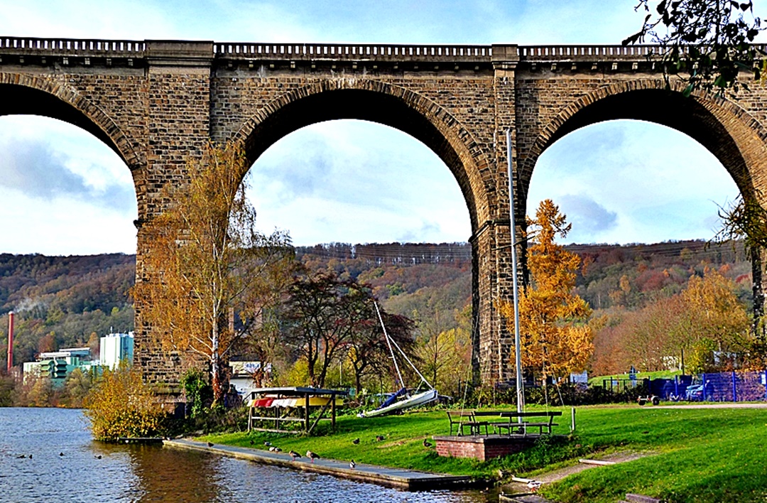
[[[337,400],[346,396],[344,390],[324,390],[321,388],[285,386],[278,388],[258,388],[251,391],[251,403],[248,413],[248,431],[275,433],[310,434],[321,420],[330,419],[335,430]],[[342,402],[341,402],[342,403]],[[312,409],[318,410],[318,416],[311,422]],[[331,410],[331,417],[325,413]],[[302,422],[301,429],[285,429],[285,422]],[[261,425],[261,426],[257,426]],[[273,426],[265,427],[264,425]]]

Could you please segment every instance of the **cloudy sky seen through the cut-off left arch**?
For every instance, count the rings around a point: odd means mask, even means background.
[[[61,120],[0,117],[3,253],[136,252],[136,192],[123,160]]]

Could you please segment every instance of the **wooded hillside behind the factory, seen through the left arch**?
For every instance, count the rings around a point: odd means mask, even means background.
[[[93,334],[133,330],[128,296],[134,255],[0,255],[0,337],[5,368],[8,311],[15,311],[15,362],[39,351],[94,346]]]

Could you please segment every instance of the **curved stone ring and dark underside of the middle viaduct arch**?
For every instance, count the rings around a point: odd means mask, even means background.
[[[380,81],[339,78],[290,90],[261,107],[235,134],[249,163],[283,136],[325,120],[357,119],[410,134],[448,166],[469,207],[472,232],[491,219],[489,160],[471,133],[433,100]],[[243,173],[244,176],[244,173]]]

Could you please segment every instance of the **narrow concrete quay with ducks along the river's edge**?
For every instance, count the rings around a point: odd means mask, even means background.
[[[214,444],[211,447],[206,442],[196,442],[187,439],[165,440],[163,445],[176,449],[213,452],[265,465],[277,465],[307,472],[324,473],[326,475],[351,478],[360,482],[370,482],[410,490],[446,487],[459,488],[475,482],[469,476],[415,472],[404,468],[385,468],[383,466],[364,465],[363,463],[357,463],[357,466],[351,469],[349,468],[348,461],[337,461],[335,459],[316,459],[312,463],[304,456],[292,461],[291,456],[284,452],[268,452],[261,449],[249,449],[247,447],[222,444]]]

